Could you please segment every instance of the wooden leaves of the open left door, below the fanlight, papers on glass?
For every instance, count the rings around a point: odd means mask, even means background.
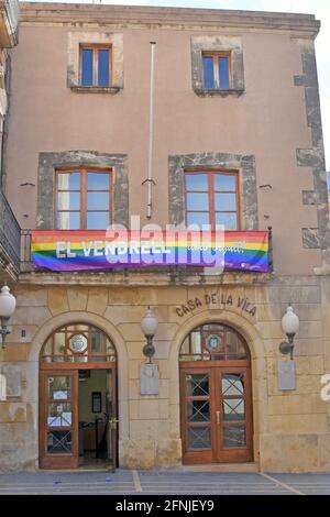
[[[40,376],[40,466],[77,469],[79,466],[79,370],[63,365],[41,370]],[[95,365],[84,365],[92,370]],[[99,370],[99,369],[97,369]],[[86,371],[86,370],[85,370]],[[107,448],[114,468],[117,455],[116,369],[107,369]],[[90,404],[90,400],[84,400]],[[81,446],[81,443],[80,443]]]

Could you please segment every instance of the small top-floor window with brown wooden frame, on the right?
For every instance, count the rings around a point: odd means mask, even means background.
[[[202,87],[231,88],[230,53],[202,54]]]

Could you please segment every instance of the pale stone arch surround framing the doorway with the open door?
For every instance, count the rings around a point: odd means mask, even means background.
[[[58,316],[54,316],[47,320],[36,332],[33,338],[32,346],[29,355],[30,378],[35,380],[33,386],[33,399],[37,400],[38,393],[38,365],[40,352],[52,332],[58,328],[72,322],[81,322],[92,324],[102,330],[112,341],[117,351],[117,371],[118,371],[118,416],[121,422],[119,427],[119,461],[121,459],[121,441],[129,438],[129,372],[128,372],[128,350],[125,342],[118,329],[106,318],[91,312],[70,311]],[[32,377],[31,377],[32,375]],[[38,429],[38,404],[34,404],[34,426]],[[38,440],[36,433],[36,440]],[[38,443],[35,443],[35,453],[37,457]]]

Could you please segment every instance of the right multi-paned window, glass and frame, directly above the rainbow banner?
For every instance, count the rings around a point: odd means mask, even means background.
[[[239,174],[237,172],[191,172],[185,174],[186,224],[223,224],[240,229]]]

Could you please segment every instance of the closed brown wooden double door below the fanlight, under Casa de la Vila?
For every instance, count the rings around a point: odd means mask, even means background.
[[[249,365],[180,363],[183,461],[253,461]]]

